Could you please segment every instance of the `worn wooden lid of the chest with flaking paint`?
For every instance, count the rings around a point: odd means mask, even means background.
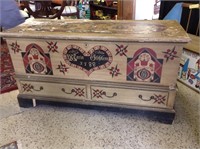
[[[7,38],[57,40],[188,42],[176,21],[153,20],[49,20],[32,19],[0,33]]]

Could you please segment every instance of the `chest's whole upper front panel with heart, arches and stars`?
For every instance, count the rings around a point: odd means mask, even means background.
[[[109,82],[175,84],[181,45],[9,39],[18,74]]]

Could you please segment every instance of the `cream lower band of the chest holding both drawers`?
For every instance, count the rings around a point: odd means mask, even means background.
[[[58,97],[66,99],[91,100],[95,102],[116,103],[124,105],[170,108],[167,90],[137,87],[113,87],[82,84],[47,83],[37,81],[19,81],[19,92],[25,95]],[[151,99],[153,97],[153,99]],[[64,100],[63,100],[64,101]],[[169,104],[169,105],[168,105]]]

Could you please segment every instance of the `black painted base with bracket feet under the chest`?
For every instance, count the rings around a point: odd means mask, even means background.
[[[32,99],[22,98],[18,96],[18,102],[20,107],[29,108],[33,107]],[[172,124],[175,118],[175,112],[160,112],[160,111],[151,111],[151,110],[142,110],[142,109],[130,109],[130,108],[119,108],[119,107],[108,107],[101,105],[86,105],[78,103],[65,103],[65,102],[56,102],[56,101],[47,101],[47,100],[36,100],[37,106],[39,105],[50,105],[58,107],[73,107],[73,108],[83,108],[83,109],[92,109],[99,111],[109,111],[109,112],[120,112],[120,113],[131,113],[133,115],[138,115],[149,120],[158,121],[164,124]]]

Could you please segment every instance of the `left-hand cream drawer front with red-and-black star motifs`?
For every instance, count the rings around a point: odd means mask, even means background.
[[[84,85],[47,82],[20,81],[20,93],[38,96],[86,99],[87,89]]]

